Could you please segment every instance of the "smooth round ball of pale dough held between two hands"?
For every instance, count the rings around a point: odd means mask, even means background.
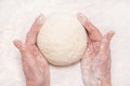
[[[47,17],[37,44],[50,63],[68,66],[80,60],[87,46],[87,34],[76,16],[53,14]]]

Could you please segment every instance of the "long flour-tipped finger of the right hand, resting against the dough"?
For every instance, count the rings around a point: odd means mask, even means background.
[[[82,26],[84,26],[84,28],[87,29],[90,40],[93,41],[102,40],[102,33],[83,14],[78,13],[77,17],[79,22],[82,24]]]

